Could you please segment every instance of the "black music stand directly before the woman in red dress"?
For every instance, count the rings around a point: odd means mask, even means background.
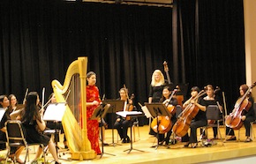
[[[90,120],[99,120],[99,119],[102,120],[102,118],[106,116],[109,107],[110,107],[110,104],[106,104],[106,105],[101,104],[98,108],[96,108],[94,110],[93,116],[91,116]],[[101,128],[101,134],[103,134],[102,128]],[[103,138],[102,138],[102,155],[101,155],[101,158],[102,158],[103,154],[104,154],[104,143],[103,143]],[[106,153],[106,154],[116,156],[112,153]]]

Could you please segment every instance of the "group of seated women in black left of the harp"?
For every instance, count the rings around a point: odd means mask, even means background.
[[[11,94],[9,96],[9,99],[6,95],[1,95],[0,107],[2,108],[2,110],[4,110],[4,116],[2,117],[0,123],[0,139],[2,141],[6,141],[6,128],[4,126],[4,123],[11,119],[19,120],[22,123],[22,130],[24,132],[26,142],[28,144],[41,143],[44,146],[48,146],[49,152],[52,154],[55,163],[61,163],[58,160],[56,154],[56,145],[49,136],[43,134],[42,132],[46,128],[46,123],[42,119],[44,109],[39,109],[39,102],[40,100],[38,93],[30,92],[26,96],[24,108],[18,109],[17,99],[15,95]],[[1,146],[2,150],[5,148],[5,145]],[[19,164],[24,163],[24,161],[20,160],[19,158],[19,155],[23,150],[24,146],[11,147],[11,153],[9,154],[9,158],[14,162],[18,162]],[[39,146],[33,161],[36,161],[41,157],[42,151],[42,147]]]

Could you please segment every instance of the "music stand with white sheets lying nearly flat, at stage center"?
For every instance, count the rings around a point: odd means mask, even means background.
[[[123,116],[123,117],[126,117],[126,116],[130,116],[130,117],[145,116],[145,115],[143,115],[142,112],[139,112],[139,111],[117,112],[117,115]],[[131,135],[131,142],[130,142],[130,143],[131,143],[131,146],[130,146],[130,149],[124,150],[124,152],[128,151],[128,153],[130,153],[132,150],[137,150],[137,151],[139,151],[139,152],[144,152],[144,151],[142,151],[142,150],[134,149],[134,148],[132,147],[132,125],[131,125],[130,135]]]

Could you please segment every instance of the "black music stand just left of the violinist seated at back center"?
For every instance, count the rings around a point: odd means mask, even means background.
[[[110,145],[115,146],[116,145],[120,145],[114,142],[114,114],[116,114],[117,111],[123,110],[124,109],[124,101],[120,101],[120,100],[105,100],[103,101],[103,103],[105,104],[110,104],[110,108],[111,110],[109,110],[111,113],[111,119],[112,119],[112,143]]]

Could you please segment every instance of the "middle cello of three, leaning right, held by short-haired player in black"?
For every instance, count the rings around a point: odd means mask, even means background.
[[[195,101],[200,98],[200,96],[204,95],[206,92],[204,90],[200,91],[195,97],[191,98],[191,101]],[[187,133],[192,119],[198,114],[200,108],[195,104],[190,103],[184,108],[184,110],[177,117],[177,122],[173,125],[172,131],[178,137],[184,137]]]

